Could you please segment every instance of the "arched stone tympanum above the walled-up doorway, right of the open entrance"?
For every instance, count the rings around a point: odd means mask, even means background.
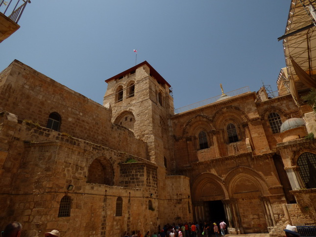
[[[230,198],[269,194],[264,178],[248,167],[240,166],[230,171],[225,177],[225,183],[228,184]]]

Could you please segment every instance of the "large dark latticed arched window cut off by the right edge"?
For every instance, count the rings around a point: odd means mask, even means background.
[[[307,189],[316,188],[316,155],[305,152],[297,159],[299,174]]]

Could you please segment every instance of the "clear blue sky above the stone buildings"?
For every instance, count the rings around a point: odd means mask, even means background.
[[[271,85],[285,67],[289,0],[32,0],[0,44],[14,59],[102,104],[104,80],[147,61],[179,108],[224,92]],[[2,7],[1,7],[2,8]]]

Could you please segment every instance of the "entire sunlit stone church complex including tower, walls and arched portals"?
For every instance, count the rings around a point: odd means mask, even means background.
[[[0,228],[119,237],[224,220],[229,234],[284,236],[316,225],[316,114],[302,99],[315,87],[304,54],[315,61],[315,27],[305,46],[290,24],[310,17],[292,3],[278,95],[222,91],[174,110],[145,61],[107,79],[100,105],[13,61],[0,72]]]

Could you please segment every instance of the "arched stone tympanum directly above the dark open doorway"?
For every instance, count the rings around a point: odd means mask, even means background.
[[[212,173],[202,173],[191,186],[192,201],[215,201],[228,199],[228,192],[223,180]]]

